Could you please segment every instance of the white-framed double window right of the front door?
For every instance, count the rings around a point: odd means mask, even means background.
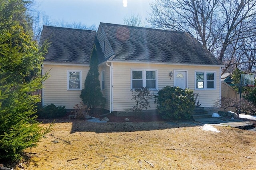
[[[215,89],[215,72],[196,72],[196,89]]]

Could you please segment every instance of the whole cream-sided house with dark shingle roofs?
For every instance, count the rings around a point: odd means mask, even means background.
[[[97,33],[44,26],[41,40],[48,38],[52,44],[43,69],[51,77],[44,82],[43,105],[72,109],[80,102],[93,43],[100,52],[105,109],[111,112],[130,110],[134,105],[130,89],[142,86],[154,94],[165,86],[192,89],[206,108],[220,100],[223,63],[188,33],[100,23]],[[151,101],[150,107],[156,109],[156,104]]]

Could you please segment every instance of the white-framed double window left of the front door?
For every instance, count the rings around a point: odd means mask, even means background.
[[[131,70],[131,88],[157,89],[156,70]]]

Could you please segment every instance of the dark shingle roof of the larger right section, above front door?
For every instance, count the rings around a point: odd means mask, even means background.
[[[223,65],[184,32],[100,23],[114,55],[108,60]]]

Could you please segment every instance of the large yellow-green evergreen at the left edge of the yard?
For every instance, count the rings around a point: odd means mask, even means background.
[[[46,46],[38,47],[28,29],[26,0],[0,1],[0,162],[13,162],[48,133],[36,120],[33,95],[42,88],[40,68]],[[22,16],[24,18],[22,18]]]

